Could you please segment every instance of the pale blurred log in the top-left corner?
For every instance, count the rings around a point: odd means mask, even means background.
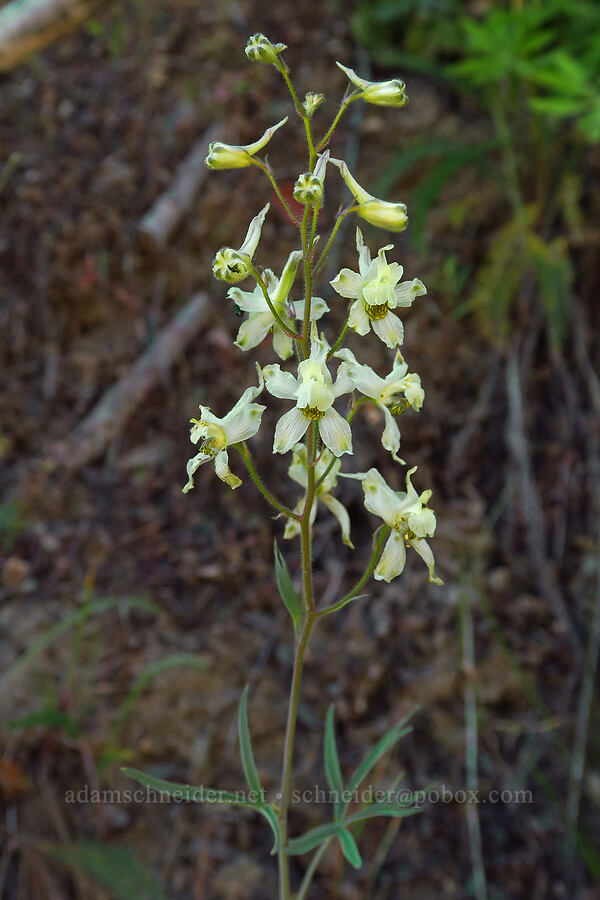
[[[0,71],[73,31],[108,0],[13,0],[0,9]]]

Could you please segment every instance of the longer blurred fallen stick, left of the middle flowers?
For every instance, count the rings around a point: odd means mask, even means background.
[[[192,297],[57,450],[55,461],[59,465],[80,469],[107,448],[144,397],[206,324],[208,309],[206,294]]]

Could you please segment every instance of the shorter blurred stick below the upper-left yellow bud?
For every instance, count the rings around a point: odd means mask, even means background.
[[[140,222],[140,231],[156,246],[164,247],[168,243],[182,218],[192,208],[194,197],[209,172],[204,163],[208,145],[216,137],[217,129],[209,128],[194,144],[177,170],[169,190],[161,194]]]

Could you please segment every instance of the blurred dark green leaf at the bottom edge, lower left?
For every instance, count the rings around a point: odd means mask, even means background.
[[[40,844],[40,849],[70,869],[85,872],[110,892],[115,900],[166,900],[154,872],[137,856],[115,844],[82,841],[66,847]]]

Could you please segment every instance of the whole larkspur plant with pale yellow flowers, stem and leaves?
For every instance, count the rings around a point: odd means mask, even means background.
[[[342,472],[343,458],[353,454],[352,421],[360,407],[369,402],[383,414],[383,447],[389,451],[395,465],[404,465],[404,461],[398,456],[400,431],[396,419],[406,409],[420,409],[424,392],[419,376],[409,372],[408,364],[399,349],[404,341],[404,325],[400,314],[412,306],[417,297],[426,293],[425,286],[418,278],[402,281],[402,266],[397,262],[388,262],[386,256],[393,250],[393,245],[382,247],[373,258],[360,228],[357,228],[357,271],[344,268],[331,281],[334,291],[339,295],[339,302],[348,301],[344,327],[333,343],[329,343],[325,332],[320,330],[323,317],[329,312],[328,306],[323,299],[313,294],[314,278],[322,269],[346,216],[356,213],[366,222],[388,231],[402,231],[407,225],[404,204],[373,197],[356,181],[346,163],[341,159],[331,158],[326,149],[342,114],[351,103],[364,100],[378,106],[401,108],[407,102],[405,86],[398,79],[380,83],[367,81],[352,69],[338,63],[348,76],[350,84],[329,130],[320,141],[316,141],[313,137],[312,116],[323,103],[324,97],[312,92],[306,95],[304,102],[300,102],[287,65],[281,58],[285,49],[284,44],[273,44],[264,35],[256,34],[248,41],[246,54],[253,62],[275,66],[289,88],[296,113],[304,123],[308,144],[308,171],[298,176],[294,188],[295,200],[304,207],[302,215],[296,216],[290,208],[271,166],[258,155],[286,124],[287,118],[267,128],[262,137],[252,144],[211,144],[206,164],[211,169],[258,167],[268,178],[279,201],[298,228],[301,248],[290,252],[279,277],[273,270],[254,261],[263,223],[269,212],[268,203],[250,222],[239,249],[222,248],[213,263],[215,278],[232,285],[227,296],[235,304],[236,313],[248,314],[239,329],[236,346],[248,351],[271,335],[273,351],[279,359],[288,360],[295,353],[296,363],[293,371],[283,370],[279,363],[271,363],[263,368],[257,364],[258,383],[246,388],[223,418],[214,415],[209,407],[200,406],[200,418],[192,419],[190,434],[192,443],[199,444],[199,451],[187,464],[188,481],[183,488],[184,493],[192,490],[194,478],[200,477],[198,469],[208,462],[214,464],[217,476],[230,488],[239,487],[241,479],[229,468],[228,451],[235,450],[267,503],[277,511],[278,518],[283,519],[284,539],[300,539],[303,586],[300,597],[275,542],[277,584],[295,631],[294,668],[281,787],[275,799],[269,801],[254,762],[248,728],[247,687],[240,700],[238,728],[242,767],[249,791],[230,793],[209,790],[162,781],[133,769],[124,771],[143,784],[179,799],[227,803],[246,807],[263,815],[273,831],[273,853],[278,854],[280,900],[289,900],[292,896],[289,857],[315,851],[300,888],[294,895],[296,900],[302,900],[308,894],[320,860],[333,841],[339,842],[344,856],[352,866],[361,866],[360,853],[352,833],[354,823],[375,816],[401,817],[418,811],[417,804],[406,792],[403,792],[402,802],[397,797],[390,799],[386,795],[376,802],[350,809],[358,788],[363,785],[377,761],[410,731],[410,726],[406,724],[406,720],[397,723],[367,753],[349,781],[344,784],[336,749],[333,708],[330,707],[325,723],[324,746],[325,774],[333,798],[332,820],[299,837],[288,836],[294,735],[304,657],[311,632],[319,619],[358,599],[371,576],[376,580],[389,582],[401,575],[407,548],[414,549],[423,559],[431,582],[441,584],[441,581],[435,574],[433,553],[427,542],[427,538],[433,537],[436,526],[435,514],[427,506],[431,491],[425,490],[419,494],[415,490],[411,476],[416,469],[410,469],[403,479],[406,481],[406,491],[393,490],[374,468],[367,472]],[[331,235],[317,257],[317,219],[324,203],[325,180],[330,164],[339,170],[353,200],[338,212]],[[293,300],[291,294],[300,268],[304,275],[304,297]],[[242,290],[237,286],[246,279],[253,281],[252,290]],[[393,351],[391,369],[386,375],[378,375],[370,366],[359,362],[351,350],[343,347],[349,329],[363,336],[373,330],[376,337]],[[337,365],[335,374],[332,372],[332,365]],[[261,428],[266,409],[256,400],[259,397],[265,399],[269,394],[291,404],[277,422],[273,452],[291,454],[289,475],[302,489],[293,509],[288,508],[264,486],[247,446],[247,441]],[[345,415],[335,408],[336,401],[341,397],[347,398]],[[348,398],[352,398],[350,402]],[[319,608],[313,591],[311,542],[320,503],[337,519],[343,542],[354,549],[350,537],[350,517],[335,496],[341,477],[361,483],[367,510],[382,519],[383,524],[373,534],[371,556],[357,584],[330,606]]]

